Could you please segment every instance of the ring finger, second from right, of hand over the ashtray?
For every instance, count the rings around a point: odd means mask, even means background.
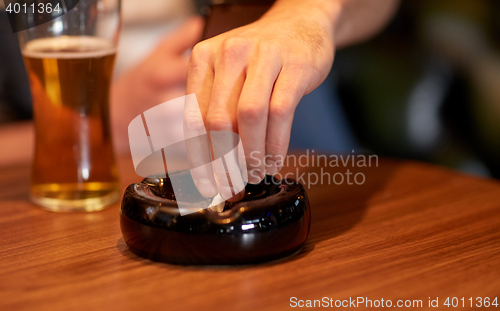
[[[281,70],[281,63],[274,61],[271,51],[262,51],[248,68],[245,84],[238,102],[238,133],[245,151],[248,182],[259,183],[265,177],[266,136],[269,104],[274,82]],[[272,54],[272,52],[271,52]]]

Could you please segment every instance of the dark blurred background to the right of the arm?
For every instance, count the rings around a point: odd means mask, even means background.
[[[334,73],[362,146],[500,178],[500,1],[403,0]]]

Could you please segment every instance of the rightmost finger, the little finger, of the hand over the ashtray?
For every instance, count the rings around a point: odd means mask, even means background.
[[[266,134],[266,173],[278,173],[288,151],[295,108],[304,95],[299,77],[282,70],[274,85]],[[300,116],[299,116],[300,117]]]

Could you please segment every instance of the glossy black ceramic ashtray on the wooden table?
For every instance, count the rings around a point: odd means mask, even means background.
[[[311,219],[304,187],[266,176],[245,191],[242,201],[225,202],[221,212],[181,216],[170,179],[146,178],[125,191],[123,238],[136,255],[173,264],[249,264],[299,250]]]

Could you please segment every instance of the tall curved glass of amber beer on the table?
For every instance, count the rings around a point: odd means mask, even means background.
[[[120,197],[109,117],[120,0],[64,9],[19,32],[35,119],[31,199],[51,211],[98,211]]]

